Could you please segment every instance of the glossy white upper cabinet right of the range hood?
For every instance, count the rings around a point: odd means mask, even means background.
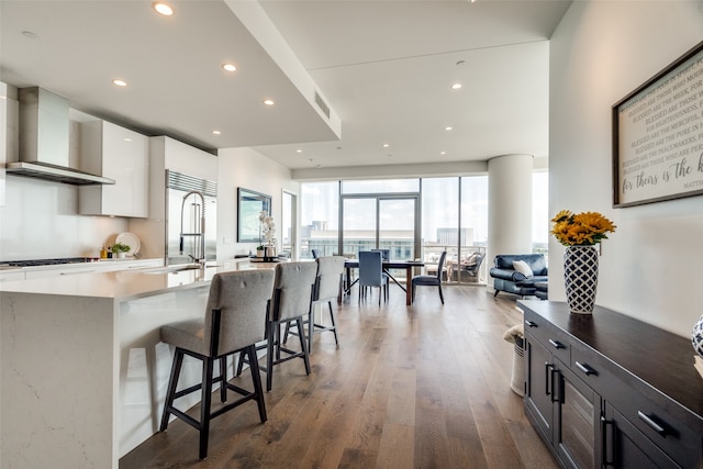
[[[80,124],[83,171],[114,179],[114,185],[81,186],[81,215],[148,215],[148,137],[105,121]]]

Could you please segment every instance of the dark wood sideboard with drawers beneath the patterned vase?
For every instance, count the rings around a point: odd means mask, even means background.
[[[563,467],[703,468],[703,378],[690,339],[605,308],[517,304],[525,413]]]

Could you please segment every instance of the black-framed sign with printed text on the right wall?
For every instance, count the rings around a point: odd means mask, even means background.
[[[703,42],[613,105],[613,206],[703,194]]]

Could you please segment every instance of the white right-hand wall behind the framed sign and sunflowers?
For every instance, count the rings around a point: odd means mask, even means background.
[[[703,197],[613,209],[611,109],[701,40],[701,1],[576,1],[550,44],[550,215],[613,220],[596,303],[683,336],[703,314]],[[562,255],[551,238],[550,300]]]

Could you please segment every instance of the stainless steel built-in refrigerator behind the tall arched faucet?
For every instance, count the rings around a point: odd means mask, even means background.
[[[216,259],[216,182],[166,170],[166,265]]]

